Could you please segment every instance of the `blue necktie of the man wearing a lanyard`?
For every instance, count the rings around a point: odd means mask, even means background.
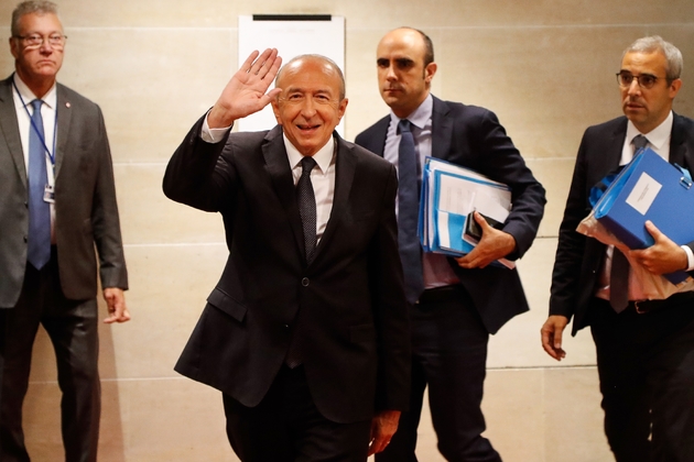
[[[48,176],[41,117],[42,100],[31,102],[34,112],[29,128],[29,249],[28,260],[41,270],[51,258],[51,206],[43,198]]]

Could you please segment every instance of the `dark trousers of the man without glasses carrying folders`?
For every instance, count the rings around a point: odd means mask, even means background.
[[[429,386],[438,451],[452,462],[500,461],[481,436],[489,334],[462,286],[426,290],[412,307],[412,396],[398,432],[377,462],[416,462],[416,429]]]

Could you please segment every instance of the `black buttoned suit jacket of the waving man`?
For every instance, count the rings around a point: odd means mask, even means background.
[[[281,127],[212,144],[199,138],[202,122],[173,155],[164,193],[219,211],[229,257],[175,370],[256,406],[300,317],[306,380],[326,418],[403,409],[410,346],[394,168],[335,134],[333,210],[307,265]]]

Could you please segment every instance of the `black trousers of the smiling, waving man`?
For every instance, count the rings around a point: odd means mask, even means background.
[[[303,366],[282,366],[256,407],[223,394],[227,436],[242,462],[366,462],[371,420],[337,424],[311,397]]]

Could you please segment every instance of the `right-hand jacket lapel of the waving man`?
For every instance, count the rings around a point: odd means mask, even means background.
[[[316,249],[316,257],[314,258],[314,262],[318,260],[323,249],[329,245],[336,230],[339,228],[343,215],[346,210],[348,210],[347,204],[357,168],[357,157],[351,148],[347,146],[345,141],[339,138],[337,133],[334,133],[333,136],[337,140],[333,210],[330,210],[330,218],[328,219],[325,232],[323,233],[318,248]]]

